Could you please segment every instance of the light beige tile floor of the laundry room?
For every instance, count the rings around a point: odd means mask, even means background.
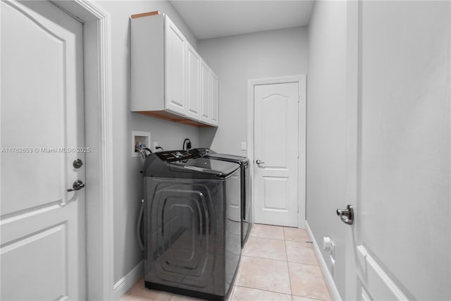
[[[254,224],[229,300],[329,301],[330,294],[309,241],[302,229]],[[148,290],[143,279],[121,299],[144,300],[199,299]]]

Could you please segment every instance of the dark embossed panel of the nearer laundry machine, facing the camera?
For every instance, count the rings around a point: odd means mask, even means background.
[[[211,192],[221,192],[221,185],[150,181],[146,281],[218,294],[214,271],[221,248]]]

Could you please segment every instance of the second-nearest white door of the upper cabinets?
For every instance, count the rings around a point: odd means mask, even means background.
[[[187,116],[195,120],[200,119],[200,56],[186,43],[187,67]]]

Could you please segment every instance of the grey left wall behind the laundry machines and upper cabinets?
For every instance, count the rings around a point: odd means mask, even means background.
[[[113,65],[113,160],[114,179],[114,281],[119,281],[138,262],[142,252],[137,244],[135,222],[142,195],[142,159],[130,154],[132,130],[150,132],[152,141],[164,149],[181,149],[185,137],[199,146],[199,130],[130,112],[130,21],[135,13],[168,13],[175,25],[197,48],[197,40],[168,1],[101,1],[111,13]]]

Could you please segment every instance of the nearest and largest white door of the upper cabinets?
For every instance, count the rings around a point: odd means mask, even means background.
[[[185,115],[185,37],[166,16],[165,24],[165,109]]]

